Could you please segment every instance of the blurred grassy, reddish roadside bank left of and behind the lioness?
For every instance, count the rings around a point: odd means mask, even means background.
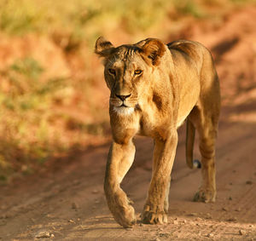
[[[96,37],[147,36],[162,32],[165,21],[207,19],[245,3],[255,1],[0,0],[0,52],[6,55],[0,63],[0,182],[108,133],[108,94],[95,97],[103,84],[93,55]],[[4,40],[9,45],[1,45]],[[38,46],[30,49],[32,43]]]

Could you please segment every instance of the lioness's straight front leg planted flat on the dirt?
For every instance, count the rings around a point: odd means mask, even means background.
[[[153,176],[144,205],[143,223],[162,224],[167,222],[170,175],[177,147],[177,130],[173,129],[166,141],[155,140]]]

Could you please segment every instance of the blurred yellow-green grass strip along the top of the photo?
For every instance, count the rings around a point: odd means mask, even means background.
[[[170,9],[180,18],[184,14],[207,17],[209,6],[218,6],[219,11],[241,3],[255,0],[1,0],[0,30],[10,34],[65,32],[75,40],[94,43],[99,34],[120,27],[131,33],[145,31],[166,18]]]

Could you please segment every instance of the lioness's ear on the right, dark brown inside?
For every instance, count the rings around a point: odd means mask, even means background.
[[[145,42],[142,47],[143,55],[145,55],[154,66],[158,66],[160,64],[160,58],[166,51],[165,44],[155,38],[148,38]],[[141,43],[143,43],[143,41]],[[147,59],[145,60],[147,61]]]

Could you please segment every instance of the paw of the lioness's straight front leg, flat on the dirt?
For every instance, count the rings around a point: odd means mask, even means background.
[[[142,213],[142,221],[145,224],[163,224],[167,222],[167,214],[164,211],[150,210],[147,205]]]

